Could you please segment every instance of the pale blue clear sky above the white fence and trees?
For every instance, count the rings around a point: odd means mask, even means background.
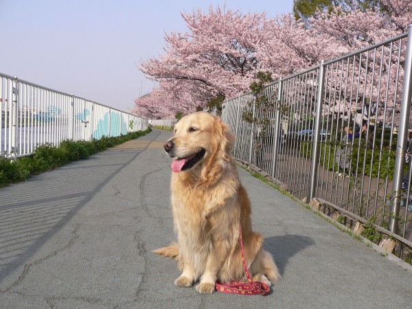
[[[293,0],[0,0],[0,73],[127,112],[156,87],[140,61],[209,5],[275,17]]]

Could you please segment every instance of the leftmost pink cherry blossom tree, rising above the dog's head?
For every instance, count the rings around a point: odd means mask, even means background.
[[[190,32],[166,34],[165,55],[141,62],[141,71],[158,81],[176,81],[185,93],[179,100],[190,100],[181,104],[191,104],[192,109],[247,89],[259,68],[255,46],[266,14],[210,7],[208,14],[198,10],[182,17]],[[195,93],[187,95],[193,89]]]

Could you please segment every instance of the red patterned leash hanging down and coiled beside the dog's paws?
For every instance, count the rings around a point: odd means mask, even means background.
[[[265,284],[264,282],[257,282],[253,281],[251,275],[249,274],[249,270],[247,269],[246,262],[244,260],[244,253],[243,253],[243,241],[242,241],[242,222],[240,222],[240,250],[242,252],[242,262],[244,273],[246,274],[248,282],[240,282],[234,281],[230,282],[229,284],[222,284],[220,282],[216,282],[215,288],[218,292],[227,293],[227,294],[240,294],[240,295],[268,295],[271,292],[270,286]]]

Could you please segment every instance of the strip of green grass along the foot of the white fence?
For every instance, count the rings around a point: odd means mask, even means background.
[[[150,131],[151,129],[148,128],[145,131],[132,132],[119,137],[102,137],[92,141],[65,140],[58,147],[45,144],[38,146],[32,156],[19,158],[16,162],[0,157],[0,187],[25,181],[32,175],[53,170],[71,161],[87,159],[97,152],[137,139]]]

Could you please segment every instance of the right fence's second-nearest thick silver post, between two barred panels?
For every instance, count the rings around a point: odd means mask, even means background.
[[[323,60],[319,65],[318,88],[316,98],[316,115],[314,120],[314,134],[312,141],[312,158],[310,159],[310,174],[309,174],[309,192],[307,202],[309,203],[314,197],[316,190],[318,161],[319,161],[319,139],[321,132],[321,111],[323,105],[323,90],[325,88],[325,67],[323,67]]]

